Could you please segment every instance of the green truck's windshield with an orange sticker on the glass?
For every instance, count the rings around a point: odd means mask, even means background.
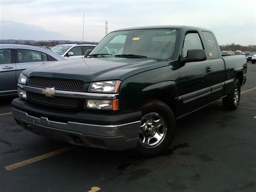
[[[108,34],[90,53],[107,57],[167,59],[174,56],[177,29],[145,29],[117,31]],[[90,56],[89,56],[90,57]]]

